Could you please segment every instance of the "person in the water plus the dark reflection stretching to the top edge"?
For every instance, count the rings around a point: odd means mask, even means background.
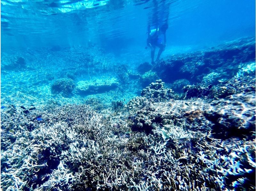
[[[148,16],[147,46],[151,48],[151,63],[154,64],[156,47],[159,47],[156,62],[159,61],[159,58],[166,47],[166,30],[168,29],[169,7],[171,1],[153,0],[152,3],[153,9]]]

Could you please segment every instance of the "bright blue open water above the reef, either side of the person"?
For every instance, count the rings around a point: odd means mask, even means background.
[[[141,49],[145,46],[152,2],[2,1],[1,47],[3,51],[52,45],[69,47],[91,41],[114,52]],[[255,35],[255,1],[169,3],[169,47],[209,47]]]

